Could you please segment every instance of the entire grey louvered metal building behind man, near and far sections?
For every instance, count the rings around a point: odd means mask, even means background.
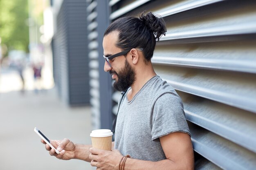
[[[55,81],[69,104],[90,100],[94,128],[112,128],[120,95],[103,71],[103,33],[119,17],[152,11],[167,25],[152,62],[182,97],[195,169],[255,169],[256,1],[58,2]]]

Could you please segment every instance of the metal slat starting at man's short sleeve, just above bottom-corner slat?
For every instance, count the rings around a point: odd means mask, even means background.
[[[252,138],[256,136],[254,113],[188,93],[178,93],[183,98],[186,119],[256,152],[256,139]]]

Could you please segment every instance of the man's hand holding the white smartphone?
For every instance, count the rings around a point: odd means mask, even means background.
[[[69,139],[63,140],[51,140],[52,146],[57,148],[60,154],[57,154],[48,144],[41,139],[41,142],[45,144],[45,149],[49,151],[49,154],[55,156],[58,159],[69,160],[75,157],[75,145]]]

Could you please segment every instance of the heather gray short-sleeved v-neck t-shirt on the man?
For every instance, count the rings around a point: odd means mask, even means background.
[[[166,157],[159,137],[177,131],[190,135],[182,100],[159,76],[151,78],[131,101],[126,92],[119,104],[114,148],[122,155],[160,161]]]

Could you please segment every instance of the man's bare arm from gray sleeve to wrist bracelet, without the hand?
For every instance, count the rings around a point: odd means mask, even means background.
[[[126,170],[193,170],[194,155],[190,136],[183,132],[173,132],[160,137],[167,159],[157,162],[127,159]]]

